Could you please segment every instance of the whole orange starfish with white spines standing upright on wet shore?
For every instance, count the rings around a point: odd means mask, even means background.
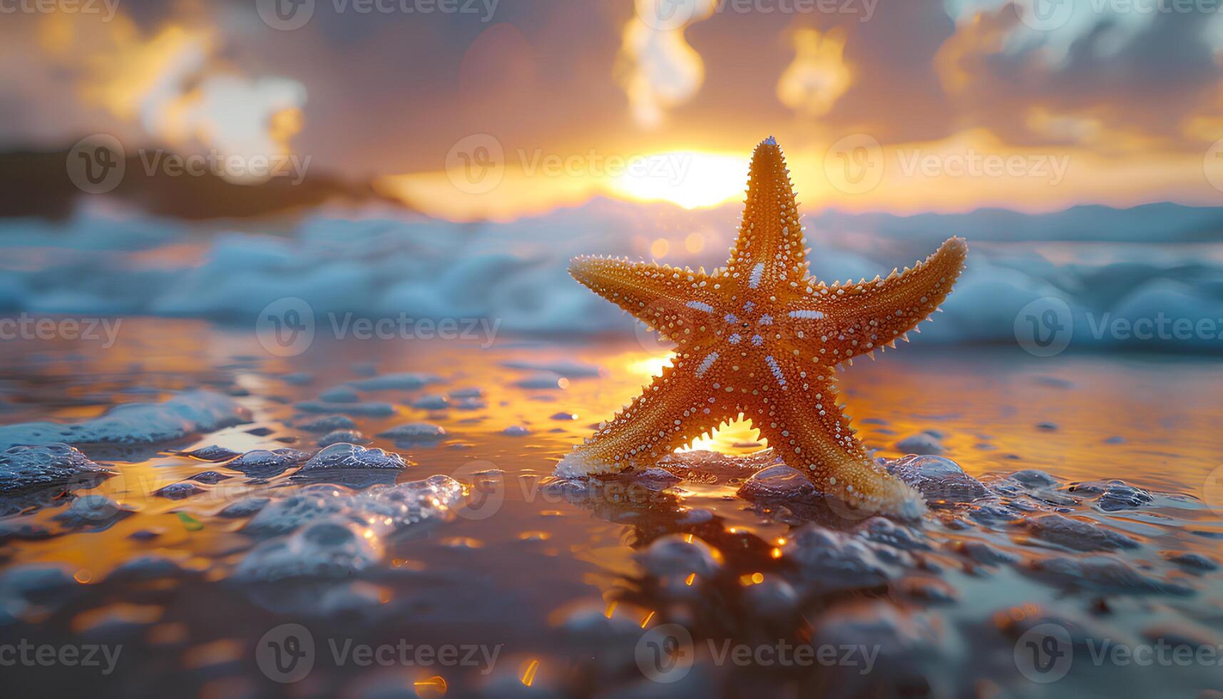
[[[826,284],[808,274],[785,157],[769,136],[752,154],[739,237],[725,267],[680,269],[581,256],[570,274],[675,343],[671,366],[556,473],[610,474],[653,463],[725,421],[746,417],[781,460],[863,512],[914,518],[917,491],[874,462],[838,403],[835,371],[929,320],[964,268],[967,245],[887,279]]]

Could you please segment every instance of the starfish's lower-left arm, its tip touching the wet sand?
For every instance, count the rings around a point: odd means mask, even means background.
[[[733,397],[719,393],[707,381],[713,376],[707,372],[717,359],[715,354],[676,359],[676,365],[663,368],[663,375],[654,377],[627,408],[600,424],[583,444],[574,447],[561,459],[556,474],[608,474],[638,462],[653,462],[737,416]]]

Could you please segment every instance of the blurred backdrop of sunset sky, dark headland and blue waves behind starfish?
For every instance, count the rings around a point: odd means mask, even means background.
[[[817,275],[970,240],[927,342],[1214,353],[1218,10],[11,0],[0,311],[623,331],[565,260],[720,264],[774,135]]]

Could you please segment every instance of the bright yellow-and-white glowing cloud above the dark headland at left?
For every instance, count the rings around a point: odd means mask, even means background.
[[[64,12],[27,21],[35,28],[35,62],[67,83],[72,111],[87,115],[65,120],[65,138],[114,131],[139,146],[249,159],[289,153],[290,138],[301,130],[306,87],[251,77],[231,65],[223,58],[225,37],[208,15],[185,11],[155,28],[122,12],[109,21]],[[46,104],[45,88],[23,87],[33,92],[23,95],[31,103]],[[221,174],[249,181],[248,169],[240,170]]]

